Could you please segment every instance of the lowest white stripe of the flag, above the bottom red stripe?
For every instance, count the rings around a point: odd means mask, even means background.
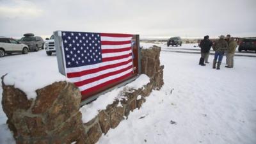
[[[132,68],[130,68],[129,70],[126,70],[125,72],[122,72],[122,73],[119,73],[119,74],[116,74],[113,76],[109,76],[104,79],[100,79],[99,81],[94,81],[93,83],[84,84],[83,86],[79,86],[79,90],[83,91],[88,88],[92,88],[93,86],[97,86],[98,84],[105,83],[106,81],[110,81],[112,79],[115,79],[116,77],[124,76],[125,74],[129,74],[130,72],[132,72]]]

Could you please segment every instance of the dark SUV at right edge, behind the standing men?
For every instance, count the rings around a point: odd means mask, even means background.
[[[241,40],[238,51],[255,51],[256,52],[256,38],[244,38]]]

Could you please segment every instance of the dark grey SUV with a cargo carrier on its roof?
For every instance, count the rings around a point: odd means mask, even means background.
[[[20,39],[20,42],[28,45],[29,51],[38,51],[40,48],[44,49],[43,38],[35,36],[33,33],[24,34],[24,37]]]

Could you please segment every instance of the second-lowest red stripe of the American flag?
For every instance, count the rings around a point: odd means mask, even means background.
[[[126,70],[131,69],[131,68],[132,68],[132,65],[129,65],[128,67],[122,68],[120,70],[116,70],[114,72],[108,72],[107,74],[102,74],[102,75],[97,76],[97,77],[92,77],[90,79],[85,79],[83,81],[79,81],[79,82],[76,82],[74,84],[76,84],[76,86],[83,86],[84,84],[93,83],[95,81],[99,81],[100,79],[104,79],[104,78],[109,77],[109,76],[120,74],[122,72],[125,72]]]

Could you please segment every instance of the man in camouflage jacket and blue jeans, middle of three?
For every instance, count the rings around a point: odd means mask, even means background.
[[[214,42],[214,45],[212,46],[213,50],[215,51],[212,68],[216,68],[216,62],[218,60],[217,70],[220,70],[222,58],[224,56],[225,50],[227,50],[228,47],[228,44],[224,38],[225,36],[221,35],[220,39]]]

